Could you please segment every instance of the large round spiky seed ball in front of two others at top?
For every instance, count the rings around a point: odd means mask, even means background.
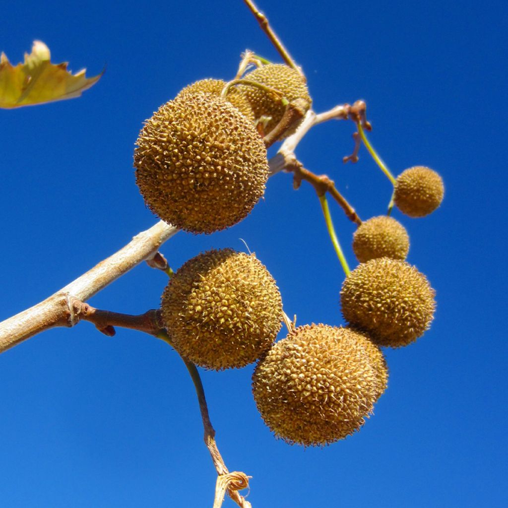
[[[182,94],[146,121],[134,152],[147,206],[193,233],[243,219],[265,190],[266,149],[234,106],[209,94]]]

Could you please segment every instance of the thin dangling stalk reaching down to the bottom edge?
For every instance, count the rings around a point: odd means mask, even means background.
[[[160,333],[157,334],[157,337],[164,340],[171,347],[174,348],[174,345],[171,341],[171,337],[168,335],[166,330],[160,331]],[[196,367],[196,365],[194,365],[194,363],[187,360],[185,357],[180,355],[180,358],[183,360],[185,367],[187,367],[190,377],[192,378],[194,383],[196,395],[198,396],[199,410],[201,412],[201,420],[203,421],[204,441],[206,444],[206,448],[208,448],[208,451],[210,452],[210,455],[212,457],[215,470],[217,471],[219,477],[226,474],[230,474],[215,442],[215,430],[212,426],[212,422],[210,421],[210,415],[208,414],[208,405],[206,403],[205,390],[203,388],[203,383],[201,382],[201,377],[199,375],[198,368]],[[248,478],[246,477],[246,475],[243,476],[245,479]],[[246,482],[245,487],[248,487],[248,480]],[[250,506],[250,504],[245,504],[244,498],[240,494],[238,494],[237,490],[238,489],[235,488],[234,485],[228,486],[228,494],[231,497],[231,499],[233,499],[233,501],[235,501],[242,508],[247,508],[248,506]]]

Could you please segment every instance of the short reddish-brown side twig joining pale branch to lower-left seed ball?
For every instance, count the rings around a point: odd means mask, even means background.
[[[77,321],[89,321],[105,335],[112,337],[115,334],[115,326],[130,328],[140,332],[157,336],[164,328],[161,323],[160,310],[150,309],[144,314],[122,314],[110,310],[100,310],[77,298],[71,298],[71,308],[74,313],[73,319]]]

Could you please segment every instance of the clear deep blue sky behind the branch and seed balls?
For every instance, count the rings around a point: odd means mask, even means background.
[[[508,505],[506,470],[506,3],[260,0],[303,66],[316,111],[365,99],[370,139],[395,174],[439,171],[442,207],[399,218],[409,259],[437,291],[424,337],[387,351],[390,383],[375,416],[325,449],[276,441],[250,395],[252,367],[203,372],[212,422],[231,470],[252,475],[258,507]],[[53,61],[89,75],[83,97],[0,110],[0,319],[44,299],[156,219],[134,181],[142,121],[186,84],[234,76],[249,48],[271,48],[240,0],[6,3],[0,49],[22,59],[34,39]],[[389,181],[350,122],[315,128],[297,155],[328,173],[362,218],[384,213]],[[332,206],[347,258],[354,226]],[[343,273],[319,202],[291,177],[270,179],[241,224],[178,233],[173,267],[211,247],[244,249],[277,279],[298,324],[340,325]],[[166,279],[139,266],[91,303],[139,313]],[[88,323],[55,329],[0,356],[0,504],[138,508],[211,506],[215,472],[192,383],[162,341]],[[227,506],[233,506],[230,500]]]

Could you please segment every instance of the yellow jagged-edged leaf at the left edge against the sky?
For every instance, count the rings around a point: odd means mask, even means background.
[[[41,41],[34,41],[31,53],[25,53],[24,63],[18,63],[16,67],[5,53],[0,55],[0,108],[19,108],[79,97],[102,74],[87,78],[83,69],[73,75],[67,70],[67,62],[51,63],[48,47]]]

